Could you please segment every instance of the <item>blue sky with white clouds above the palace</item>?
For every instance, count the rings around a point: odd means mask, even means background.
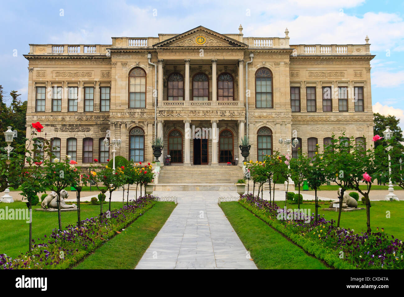
[[[29,43],[111,44],[198,25],[236,34],[240,23],[244,37],[283,37],[288,27],[290,44],[364,44],[368,35],[374,111],[397,116],[404,130],[402,1],[2,1],[0,11],[0,84],[24,100]]]

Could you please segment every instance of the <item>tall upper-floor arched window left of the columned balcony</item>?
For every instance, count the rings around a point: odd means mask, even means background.
[[[146,73],[136,67],[129,73],[129,108],[146,108]]]

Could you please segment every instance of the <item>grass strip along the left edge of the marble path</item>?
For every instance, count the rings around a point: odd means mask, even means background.
[[[157,202],[74,269],[133,269],[175,208],[174,202]]]

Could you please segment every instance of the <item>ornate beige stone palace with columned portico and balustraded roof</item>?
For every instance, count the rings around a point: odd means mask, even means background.
[[[244,37],[242,29],[30,44],[27,137],[41,122],[55,154],[84,167],[112,158],[107,130],[122,140],[116,154],[136,162],[151,162],[151,142],[164,139],[160,159],[170,155],[171,165],[240,165],[244,135],[252,160],[286,154],[280,138],[299,140],[293,156],[299,147],[315,154],[341,131],[370,145],[375,56],[367,36],[365,44],[291,45],[288,29],[284,37]]]

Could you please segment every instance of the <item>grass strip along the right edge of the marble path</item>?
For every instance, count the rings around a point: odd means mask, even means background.
[[[220,207],[259,269],[327,269],[238,202]]]

